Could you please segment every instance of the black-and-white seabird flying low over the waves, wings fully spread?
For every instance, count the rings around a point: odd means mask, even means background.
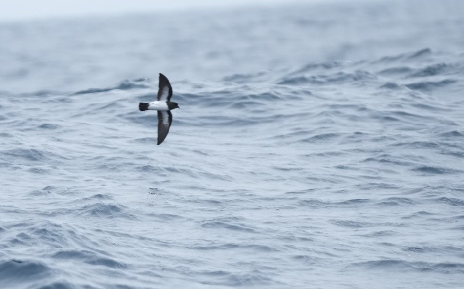
[[[172,124],[171,110],[180,108],[175,102],[171,102],[172,87],[169,80],[160,73],[158,84],[158,100],[151,103],[139,103],[140,111],[157,110],[158,111],[158,145],[161,144],[168,135],[169,128]]]

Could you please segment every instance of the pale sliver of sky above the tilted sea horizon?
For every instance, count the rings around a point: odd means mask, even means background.
[[[285,2],[295,0],[0,0],[0,21]]]

